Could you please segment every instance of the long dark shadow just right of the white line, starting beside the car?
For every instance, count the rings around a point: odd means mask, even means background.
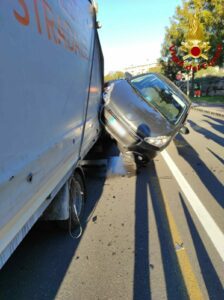
[[[206,166],[203,160],[201,160],[199,154],[195,151],[193,147],[178,134],[174,140],[176,144],[177,151],[185,161],[192,167],[197,173],[198,177],[201,179],[204,186],[208,189],[210,194],[218,202],[218,204],[224,208],[224,188],[222,183],[216,178],[212,171]]]

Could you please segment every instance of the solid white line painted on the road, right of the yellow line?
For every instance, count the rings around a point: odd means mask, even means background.
[[[222,261],[224,262],[224,234],[211,217],[205,206],[202,204],[201,200],[195,194],[190,184],[184,178],[183,174],[180,172],[170,155],[166,150],[164,150],[161,155],[171,170],[173,176],[175,177],[177,183],[179,184],[181,190],[183,191],[186,200],[191,205],[195,214],[197,215],[201,225],[204,227],[209,238],[211,239],[214,247],[219,253]]]

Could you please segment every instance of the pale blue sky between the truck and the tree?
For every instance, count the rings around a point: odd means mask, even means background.
[[[155,63],[181,0],[98,0],[105,73]]]

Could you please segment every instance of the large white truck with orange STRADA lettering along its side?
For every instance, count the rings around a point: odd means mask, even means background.
[[[103,56],[90,0],[0,1],[0,40],[1,268],[46,208],[82,212]]]

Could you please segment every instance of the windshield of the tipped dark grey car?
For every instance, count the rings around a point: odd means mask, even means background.
[[[161,79],[153,74],[148,74],[136,77],[129,83],[147,103],[154,106],[171,123],[178,122],[186,104]]]

